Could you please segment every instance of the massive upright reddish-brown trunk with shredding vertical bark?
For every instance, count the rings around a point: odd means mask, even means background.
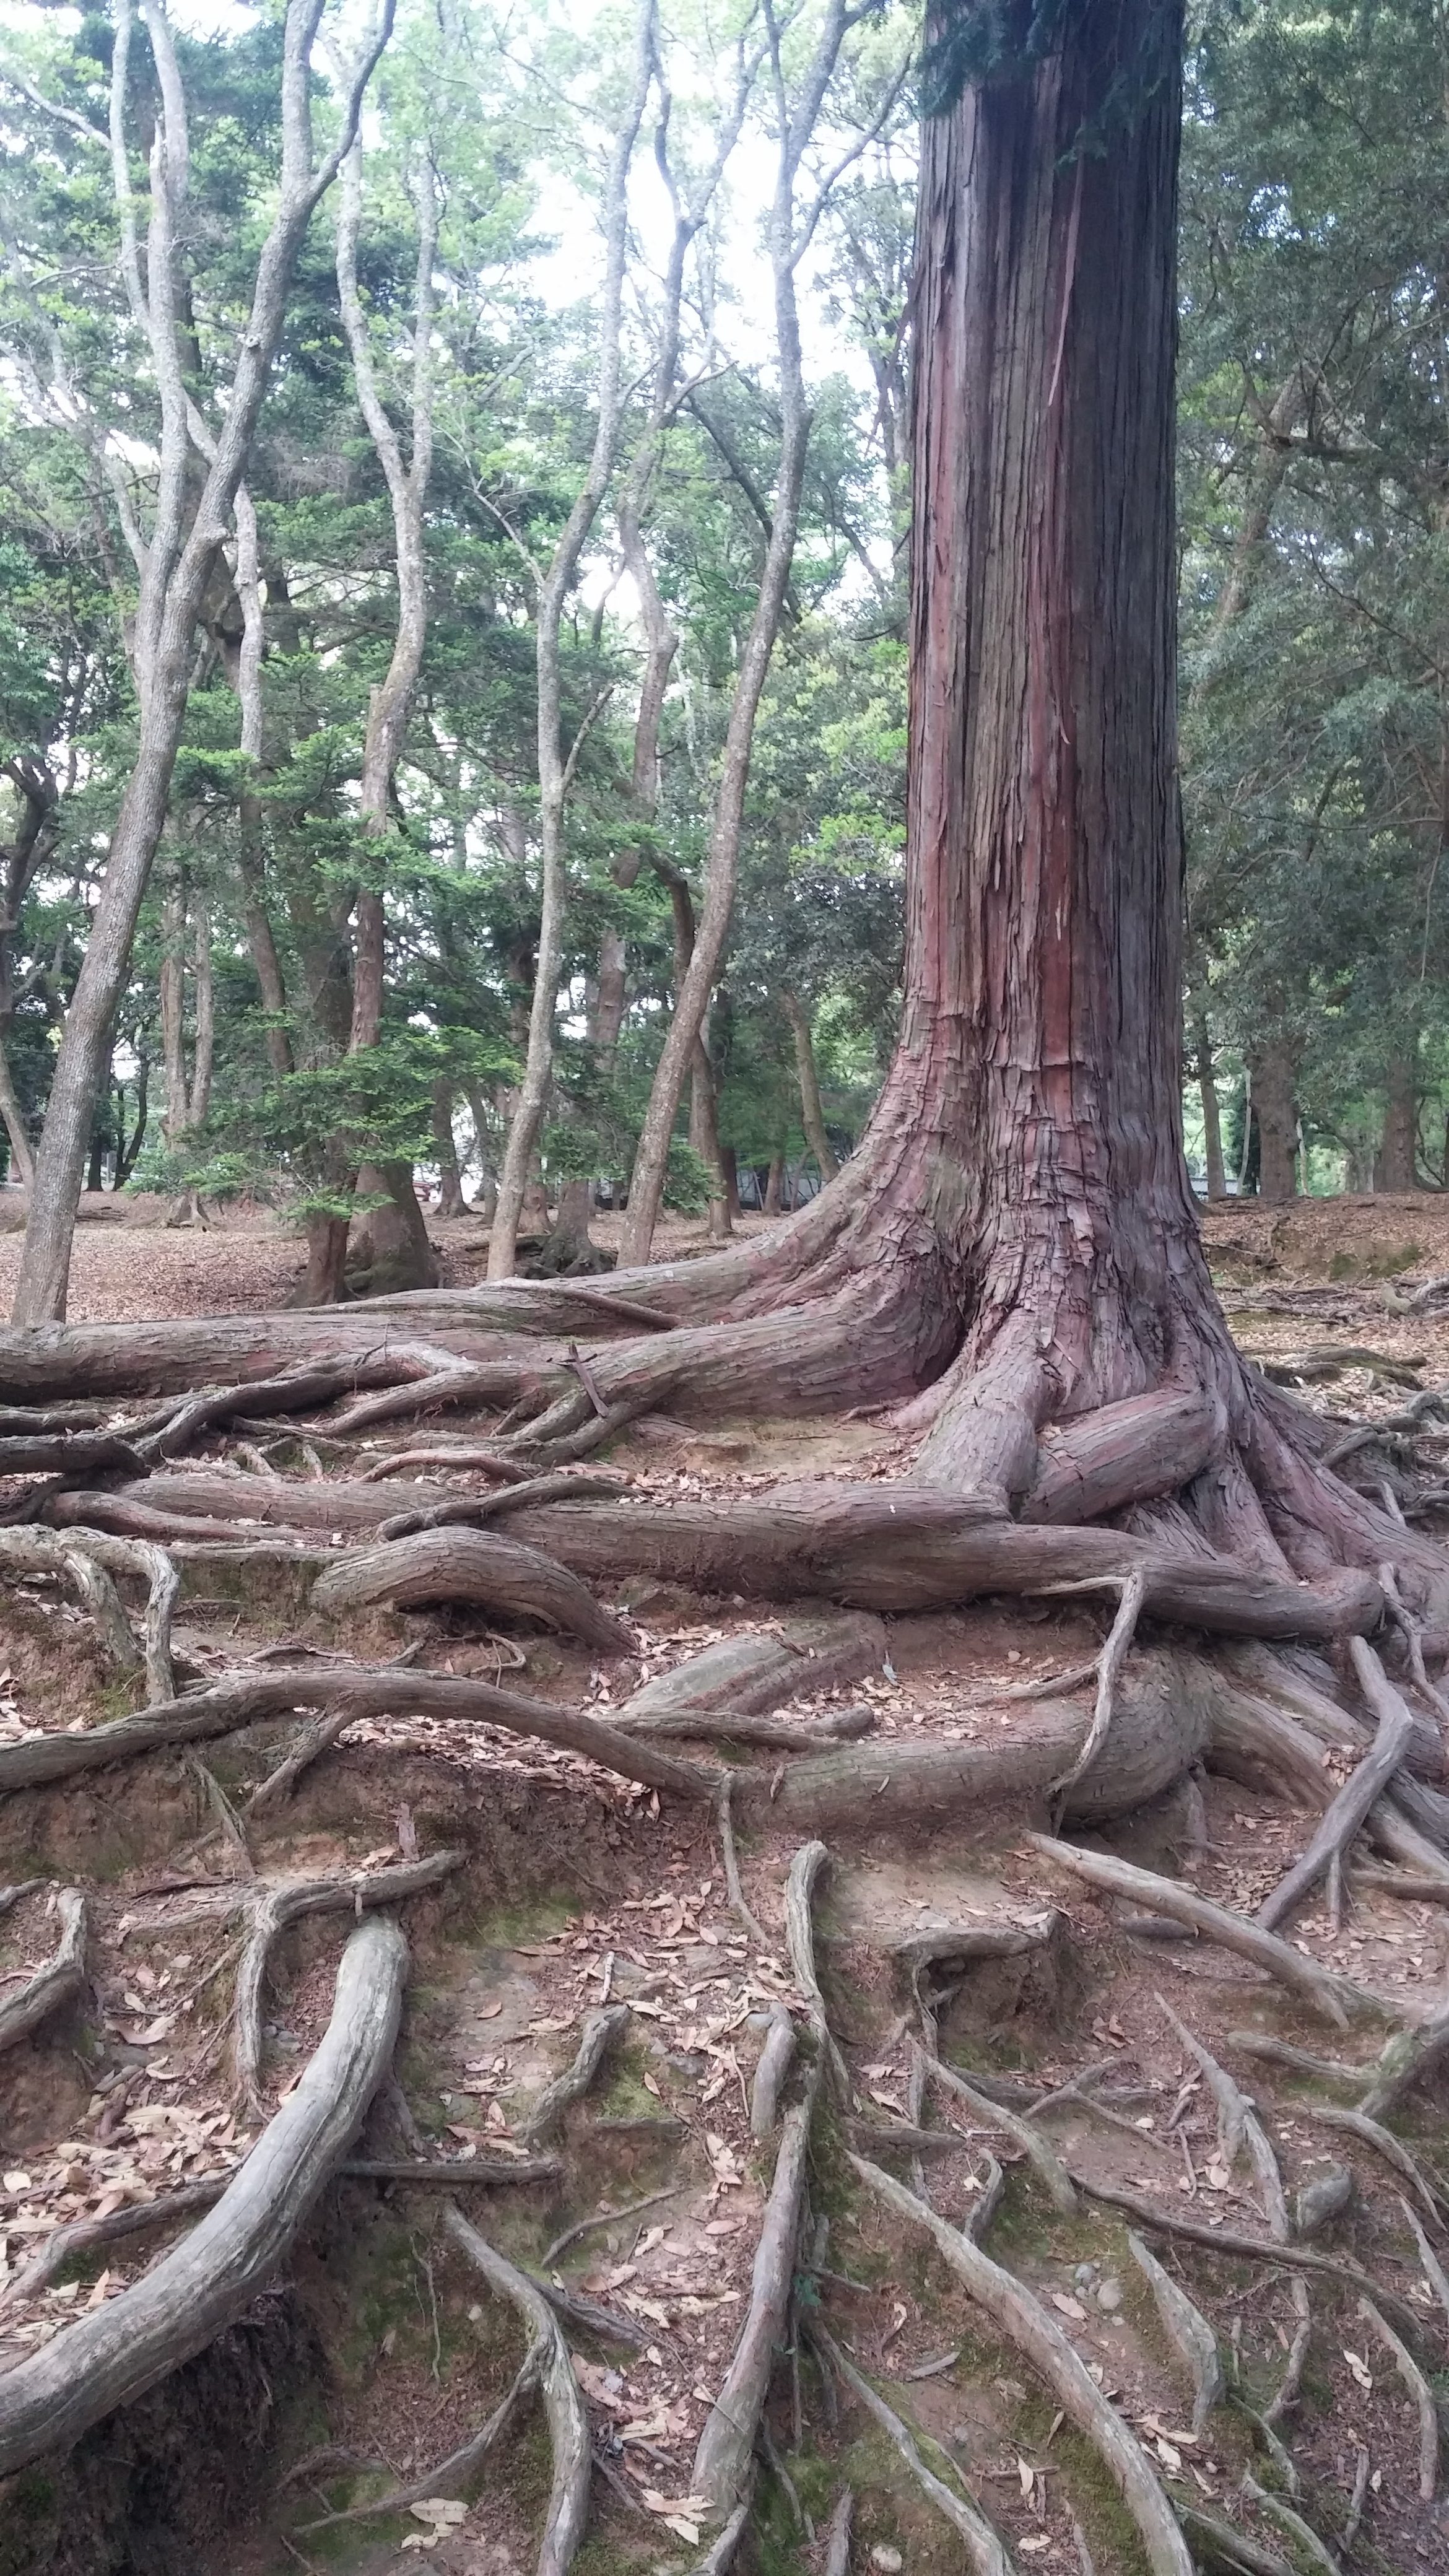
[[[926,126],[908,1007],[877,1151],[998,1388],[933,1448],[1006,1489],[1044,1409],[1235,1373],[1178,1090],[1178,33],[1160,0],[1088,0]]]

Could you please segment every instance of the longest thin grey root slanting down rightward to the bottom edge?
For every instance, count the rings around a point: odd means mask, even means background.
[[[1088,2375],[1085,2362],[1073,2352],[1067,2336],[1047,2313],[1042,2300],[1013,2280],[1011,2272],[1003,2272],[990,2254],[982,2254],[977,2244],[938,2218],[926,2200],[908,2192],[902,2182],[892,2182],[890,2174],[866,2164],[864,2156],[851,2156],[851,2166],[887,2210],[931,2236],[936,2251],[962,2280],[967,2295],[985,2308],[995,2331],[1006,2336],[1006,2342],[1013,2344],[1013,2349],[1021,2352],[1024,2360],[1029,2360],[1031,2367],[1047,2380],[1062,2414],[1096,2447],[1111,2483],[1137,2524],[1137,2532],[1142,2535],[1152,2576],[1191,2576],[1186,2540],[1147,2452],[1116,2409],[1104,2398],[1101,2388]]]

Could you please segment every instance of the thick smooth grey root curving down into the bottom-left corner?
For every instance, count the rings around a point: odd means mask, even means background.
[[[358,1924],[322,2045],[217,2208],[152,2272],[0,2378],[0,2478],[70,2450],[245,2313],[361,2128],[392,2063],[405,1981],[397,1924]]]

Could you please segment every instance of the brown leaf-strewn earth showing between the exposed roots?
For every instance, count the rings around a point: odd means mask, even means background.
[[[482,1273],[472,1226],[436,1229],[449,1280]],[[701,1229],[670,1229],[683,1257]],[[1351,1345],[1374,1358],[1333,1381],[1333,1404],[1372,1414],[1403,1383],[1449,1381],[1449,1329],[1385,1303],[1385,1278],[1449,1270],[1449,1200],[1312,1203],[1294,1211],[1212,1211],[1207,1239],[1232,1329],[1256,1358]],[[0,1242],[0,1298],[15,1257]],[[1343,1262],[1351,1267],[1346,1270]],[[286,1296],[297,1244],[268,1224],[165,1231],[93,1224],[80,1231],[72,1316],[206,1314]],[[1271,1298],[1287,1296],[1289,1309]],[[1403,1288],[1395,1291],[1403,1296]],[[1269,1303],[1263,1303],[1269,1298]],[[1243,1303],[1238,1303],[1243,1301]],[[1318,1401],[1307,1386],[1310,1401]],[[1323,1399],[1325,1401],[1325,1399]],[[467,1432],[456,1417],[449,1432]],[[364,1443],[379,1455],[389,1435]],[[740,1422],[691,1432],[647,1417],[608,1453],[655,1499],[740,1497],[779,1476],[900,1471],[905,1445],[879,1425]],[[443,1471],[459,1492],[474,1471]],[[418,1479],[423,1484],[423,1479]],[[431,1471],[431,1486],[438,1471]],[[397,1656],[446,1674],[518,1677],[562,1705],[611,1716],[647,1680],[722,1638],[776,1631],[730,1597],[657,1582],[621,1587],[621,1656],[482,1613],[379,1613],[345,1628],[307,1605],[307,1584],[191,1574],[175,1620],[188,1680],[289,1649]],[[768,1605],[766,1605],[768,1607]],[[1106,1613],[1044,1602],[977,1602],[962,1613],[895,1618],[877,1669],[830,1692],[802,1690],[781,1710],[810,1723],[846,1703],[871,1710],[871,1741],[982,1741],[1024,1710],[1000,1692],[1078,1667],[1098,1651]],[[0,1744],[93,1726],[131,1698],[101,1659],[90,1620],[44,1582],[0,1597]],[[802,1674],[807,1680],[807,1674]],[[456,2159],[467,2215],[516,2264],[614,2311],[616,2331],[570,2329],[596,2455],[593,2522],[580,2576],[663,2576],[699,2558],[691,2460],[750,2306],[750,2267],[771,2187],[773,2148],[750,2136],[750,2081],[784,1999],[799,1989],[784,1927],[794,1842],[768,1829],[743,1839],[743,1888],[763,1940],[732,1911],[706,1808],[683,1808],[614,1772],[492,1726],[364,1718],[304,1772],[291,1803],[235,1829],[248,1785],[289,1741],[291,1721],[253,1726],[191,1757],[155,1754],[0,1806],[0,1880],[41,1880],[0,1922],[0,2002],[57,1940],[57,1886],[88,1901],[88,1989],[0,2056],[0,2372],[116,2295],[155,2254],[142,2236],[72,2264],[36,2295],[21,2267],[57,2223],[139,2205],[232,2169],[291,2089],[330,2012],[343,1935],[309,1919],[271,1955],[260,2102],[237,2099],[227,2066],[227,1973],[235,1891],[253,1878],[345,1875],[459,1850],[456,1875],[407,1906],[413,1981],[397,2076],[428,2154]],[[1325,1754],[1333,1780],[1341,1770]],[[217,1788],[222,1801],[217,1801]],[[1212,1775],[1204,1814],[1181,1793],[1129,1824],[1080,1839],[1145,1868],[1186,1875],[1250,1914],[1302,1847],[1302,1811],[1281,1793]],[[232,1816],[219,1824],[217,1814]],[[1127,2221],[1083,2197],[1060,2215],[1021,2148],[946,2094],[931,2112],[913,2092],[918,2032],[902,1942],[962,1922],[1044,1935],[1018,1958],[990,1960],[941,2002],[941,2056],[1000,2084],[1031,2079],[1085,2092],[1042,2120],[1057,2156],[1088,2187],[1127,2190],[1207,2228],[1263,2236],[1253,2169],[1225,2154],[1212,2089],[1171,2012],[1256,2094],[1294,2195],[1333,2166],[1354,2177],[1348,2210],[1315,2236],[1359,2262],[1385,2298],[1423,2311],[1444,2375],[1444,2316],[1421,2275],[1397,2200],[1372,2143],[1320,2112],[1338,2094],[1320,2079],[1250,2063],[1230,2032],[1328,2048],[1364,2066],[1377,2035],[1315,2035],[1299,2004],[1243,1960],[1201,1942],[1132,1937],[1106,1896],[1044,1873],[1021,1844],[1039,1819],[982,1808],[936,1837],[856,1837],[833,1852],[815,1917],[830,2030],[848,2069],[848,2107],[815,2123],[807,2257],[789,2313],[789,2354],[766,2414],[753,2566],[825,2568],[825,2522],[843,2486],[856,2496],[848,2563],[871,2576],[962,2566],[962,2543],[890,2439],[820,2362],[812,2326],[853,2360],[897,2416],[938,2445],[1008,2540],[1018,2571],[1134,2576],[1132,2524],[1080,2432],[1042,2380],[964,2298],[923,2236],[902,2231],[848,2169],[846,2146],[913,2174],[887,2130],[938,2123],[915,2184],[954,2223],[969,2218],[990,2172],[1008,2169],[990,2254],[1026,2282],[1134,2427],[1173,2499],[1240,2522],[1258,2548],[1248,2566],[1312,2561],[1271,2509],[1243,2504],[1243,2473],[1287,2494],[1333,2553],[1351,2517],[1343,2566],[1395,2571],[1449,2563],[1449,2514],[1421,2501],[1421,2419],[1392,2354],[1374,2342],[1348,2287],[1312,2282],[1312,2344],[1302,2396],[1279,2424],[1284,2478],[1258,2416],[1284,2375],[1297,2329],[1292,2272],[1189,2244],[1152,2244],[1214,2326],[1230,2357],[1232,2401],[1194,2432],[1191,2385],[1134,2267]],[[206,1909],[214,1909],[211,1917]],[[1449,1914],[1348,1875],[1343,1924],[1323,1896],[1292,1922],[1299,1953],[1369,1986],[1408,2020],[1444,2007]],[[544,2141],[549,2172],[513,2187],[469,2182],[469,2164],[521,2156],[529,2107],[570,2063],[588,2009],[627,2004],[593,2089]],[[1096,2066],[1096,2076],[1083,2069]],[[1036,2125],[1036,2123],[1034,2123]],[[1418,2099],[1397,2133],[1431,2169],[1423,2215],[1444,2244],[1434,2174],[1441,2110]],[[397,2156],[374,2107],[358,2156]],[[431,2563],[451,2576],[526,2576],[549,2488],[549,2455],[526,2419],[482,2470],[443,2491],[462,2512],[402,2509],[384,2519],[317,2524],[418,2481],[451,2455],[503,2396],[521,2334],[438,2231],[441,2195],[376,2179],[338,2179],[317,2205],[284,2285],[150,2398],[98,2427],[70,2463],[26,2470],[0,2488],[0,2576],[278,2576],[348,2568],[358,2576]],[[608,2215],[619,2213],[619,2215]],[[570,2239],[572,2241],[565,2241]],[[5,2290],[10,2285],[10,2290]],[[1361,2455],[1366,2452],[1366,2488]],[[1232,2563],[1201,2558],[1204,2566]],[[1320,2576],[1336,2558],[1318,2561]]]

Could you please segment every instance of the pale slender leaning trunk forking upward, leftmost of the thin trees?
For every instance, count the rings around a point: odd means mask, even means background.
[[[193,667],[193,636],[206,582],[217,554],[227,538],[237,484],[248,466],[248,448],[271,376],[271,361],[281,337],[291,268],[312,209],[333,185],[343,155],[351,149],[361,93],[392,33],[392,5],[384,0],[382,23],[371,39],[364,64],[358,64],[343,103],[340,134],[320,167],[312,167],[312,44],[322,18],[322,0],[286,0],[281,36],[281,173],[276,211],[255,265],[253,307],[237,343],[237,366],[217,435],[217,453],[209,466],[191,528],[186,526],[186,392],[180,384],[180,355],[175,330],[175,270],[173,242],[186,201],[186,137],[162,126],[152,170],[152,227],[147,240],[147,322],[152,355],[162,389],[162,469],[157,489],[157,518],[150,533],[147,572],[137,608],[137,688],[139,729],[137,757],[121,796],[121,811],[111,832],[101,902],[90,922],[85,961],[64,1018],[64,1036],[57,1051],[52,1097],[41,1146],[36,1154],[36,1188],[15,1283],[15,1324],[54,1324],[64,1316],[64,1291],[70,1278],[70,1244],[75,1234],[75,1198],[95,1103],[103,1095],[111,1030],[131,963],[131,940],[152,858],[165,827],[170,775],[180,744],[186,698]],[[152,36],[155,44],[155,36]],[[116,41],[119,72],[113,70],[113,113],[126,108],[124,46]],[[168,103],[170,106],[170,103]],[[124,170],[124,137],[121,137]],[[121,204],[121,229],[126,252],[126,196]],[[121,188],[119,188],[121,193]],[[134,216],[129,216],[134,258]]]

